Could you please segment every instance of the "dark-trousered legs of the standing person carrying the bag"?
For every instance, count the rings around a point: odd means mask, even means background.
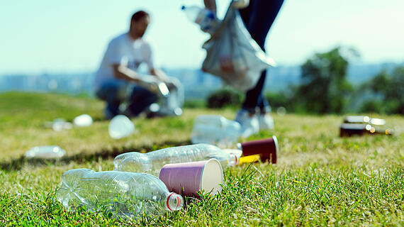
[[[272,23],[274,23],[283,2],[283,0],[252,0],[247,9],[240,10],[247,30],[264,51],[266,35]],[[256,106],[259,106],[263,112],[270,109],[268,101],[262,94],[265,78],[266,70],[262,72],[256,86],[246,92],[245,101],[242,104],[243,109],[251,112],[255,110]]]

